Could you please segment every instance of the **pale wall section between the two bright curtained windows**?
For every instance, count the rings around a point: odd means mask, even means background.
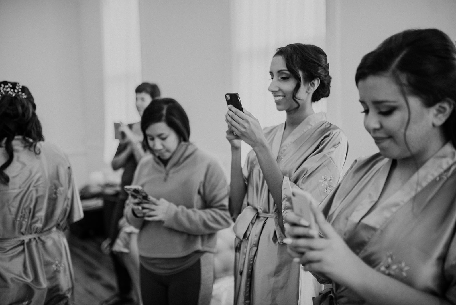
[[[229,172],[224,94],[231,88],[229,1],[140,0],[143,80],[176,99],[190,140]]]

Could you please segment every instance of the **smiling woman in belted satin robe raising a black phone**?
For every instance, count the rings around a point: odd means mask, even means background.
[[[323,200],[339,180],[348,147],[342,131],[311,106],[329,95],[328,68],[320,47],[280,47],[272,58],[269,91],[277,110],[286,111],[285,123],[262,130],[247,110],[229,106],[230,212],[237,217],[235,304],[298,303],[300,267],[283,244],[291,191],[306,189]],[[253,148],[244,169],[240,140]]]

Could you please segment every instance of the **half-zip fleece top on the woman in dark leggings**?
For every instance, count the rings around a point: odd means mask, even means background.
[[[189,142],[181,142],[166,166],[147,155],[136,167],[133,185],[171,204],[164,221],[146,221],[125,209],[140,230],[140,256],[180,258],[195,251],[215,252],[217,231],[230,226],[228,183],[218,162]]]

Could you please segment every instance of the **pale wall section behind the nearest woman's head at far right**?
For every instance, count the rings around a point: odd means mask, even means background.
[[[355,72],[364,54],[408,28],[435,27],[456,38],[454,0],[326,0],[326,52],[333,77],[328,120],[345,131],[347,164],[378,152],[363,126]]]

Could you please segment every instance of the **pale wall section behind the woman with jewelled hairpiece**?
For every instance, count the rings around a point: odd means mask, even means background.
[[[103,128],[97,121],[103,120],[97,106],[103,105],[97,5],[90,0],[0,1],[0,79],[30,89],[44,136],[67,153],[78,185],[87,181],[89,168],[100,167],[94,152]]]

